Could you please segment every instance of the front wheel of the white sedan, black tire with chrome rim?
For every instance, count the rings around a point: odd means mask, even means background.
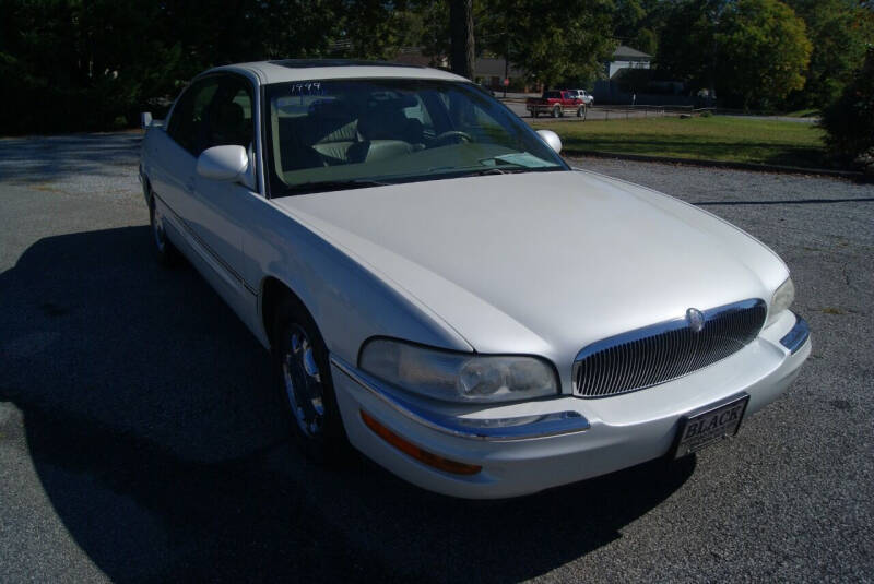
[[[276,309],[271,357],[276,400],[297,445],[319,464],[345,460],[350,449],[328,349],[309,312],[291,296]]]

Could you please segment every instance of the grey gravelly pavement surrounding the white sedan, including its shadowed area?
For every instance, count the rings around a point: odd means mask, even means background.
[[[474,504],[297,453],[267,353],[152,258],[138,144],[0,140],[0,581],[872,579],[874,187],[574,160],[772,247],[814,354],[734,440]]]

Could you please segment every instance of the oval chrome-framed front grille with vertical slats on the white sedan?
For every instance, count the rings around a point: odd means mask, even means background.
[[[589,345],[574,361],[576,394],[604,397],[628,393],[713,365],[756,338],[767,307],[752,299],[701,314],[704,326],[698,332],[683,318]]]

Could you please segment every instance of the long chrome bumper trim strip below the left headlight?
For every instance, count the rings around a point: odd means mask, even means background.
[[[574,432],[590,428],[589,420],[577,412],[555,412],[513,418],[459,418],[428,412],[391,391],[364,371],[351,367],[339,357],[331,356],[331,363],[365,391],[395,412],[432,430],[457,438],[488,441],[528,440]]]

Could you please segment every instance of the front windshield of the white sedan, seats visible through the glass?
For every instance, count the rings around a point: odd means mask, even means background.
[[[567,170],[470,83],[331,80],[265,88],[272,196],[465,175]]]

